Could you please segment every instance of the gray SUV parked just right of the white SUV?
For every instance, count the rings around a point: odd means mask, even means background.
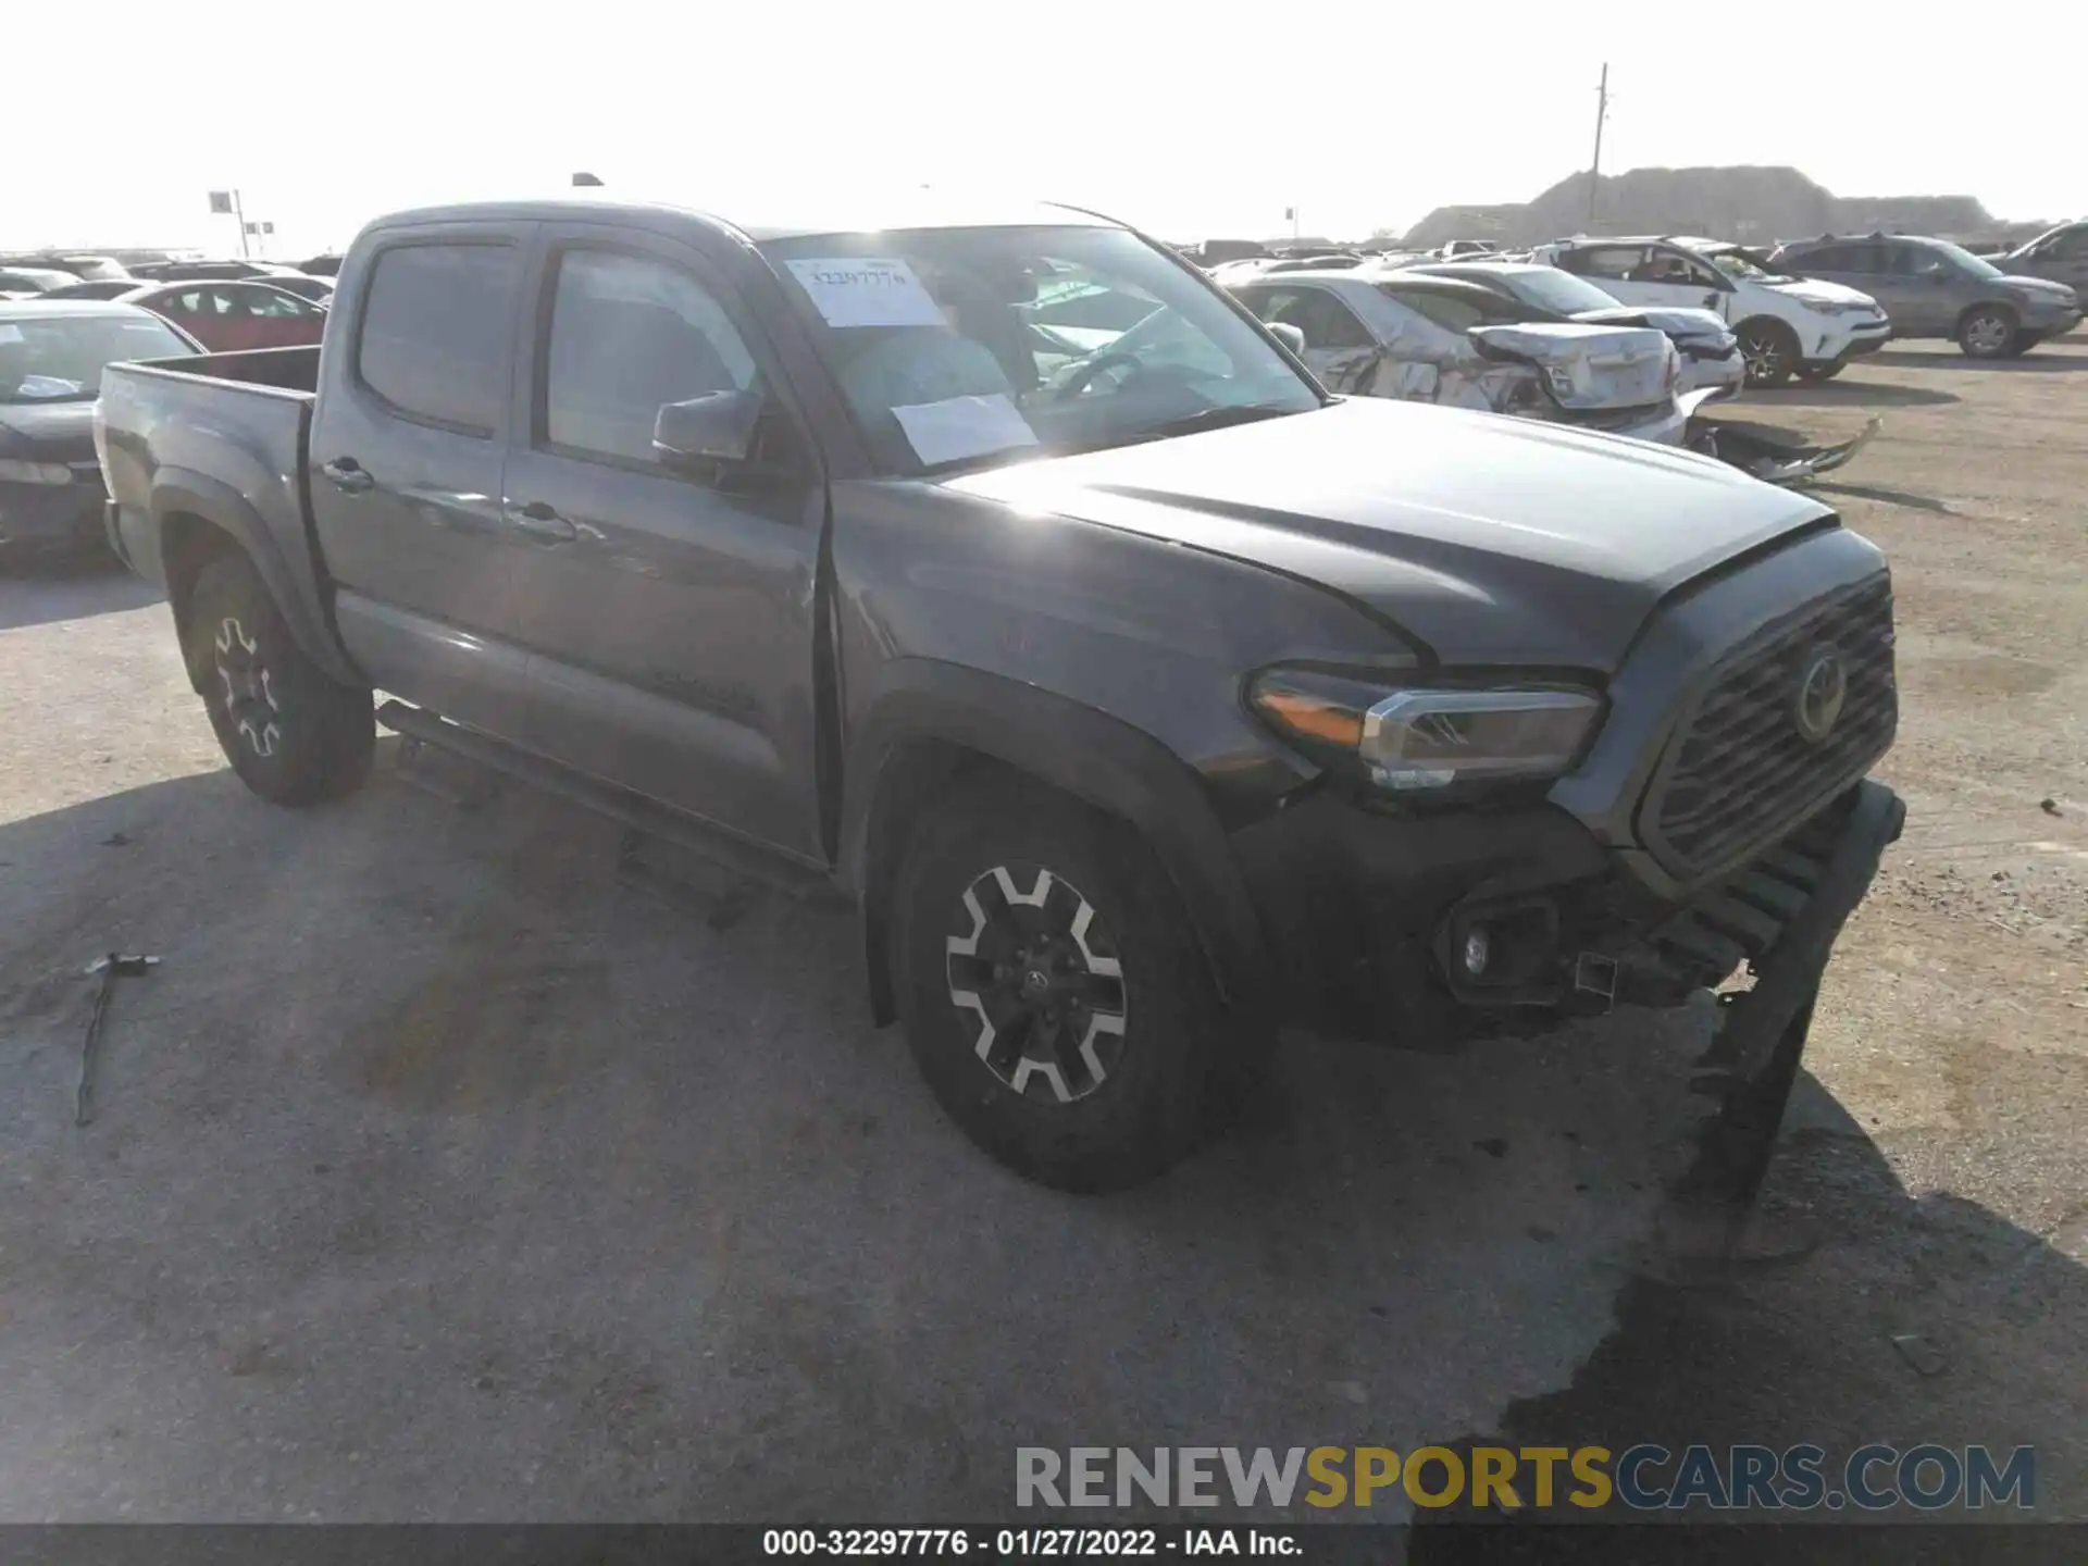
[[[1771,263],[1862,288],[1892,311],[1894,336],[1950,338],[1973,359],[2007,359],[2071,330],[2080,299],[2044,278],[2009,276],[1963,244],[1865,234],[1779,244]]]

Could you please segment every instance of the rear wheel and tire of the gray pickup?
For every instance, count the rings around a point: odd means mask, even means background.
[[[246,555],[196,574],[182,651],[226,760],[263,800],[317,804],[370,777],[367,687],[340,685],[305,656]]]

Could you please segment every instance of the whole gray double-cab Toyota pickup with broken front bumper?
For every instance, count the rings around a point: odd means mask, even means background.
[[[1741,965],[1773,1130],[1902,816],[1890,578],[1829,509],[1330,397],[1071,209],[386,217],[324,347],[111,367],[96,438],[255,793],[353,789],[376,716],[846,900],[877,1021],[1065,1188],[1178,1159],[1284,1023]]]

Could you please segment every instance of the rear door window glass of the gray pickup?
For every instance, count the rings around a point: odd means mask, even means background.
[[[507,244],[397,244],[363,296],[355,374],[397,413],[489,436],[507,403],[522,263]]]

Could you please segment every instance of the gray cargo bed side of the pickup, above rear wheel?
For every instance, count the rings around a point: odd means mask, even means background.
[[[96,436],[123,562],[167,585],[182,528],[161,524],[192,514],[236,537],[288,614],[328,624],[305,470],[317,384],[317,347],[109,365]]]

